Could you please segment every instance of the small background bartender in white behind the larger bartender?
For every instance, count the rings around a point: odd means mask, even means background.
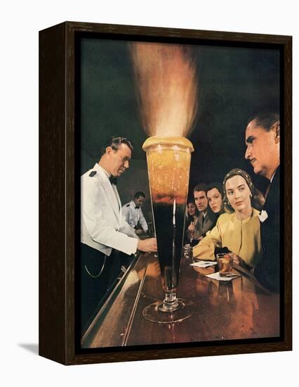
[[[141,191],[136,192],[133,201],[126,203],[122,208],[122,213],[126,222],[135,229],[135,234],[141,235],[147,232],[147,221],[143,216],[141,207],[145,201],[145,194]]]

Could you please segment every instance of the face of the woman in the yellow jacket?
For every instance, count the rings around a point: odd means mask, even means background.
[[[227,179],[225,192],[230,205],[236,212],[251,208],[251,191],[244,177],[235,175]]]

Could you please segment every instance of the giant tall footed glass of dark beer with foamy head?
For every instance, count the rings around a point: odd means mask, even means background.
[[[185,137],[150,137],[147,153],[150,195],[165,299],[145,307],[143,316],[159,323],[179,322],[192,315],[194,304],[176,297],[185,208],[193,146]]]

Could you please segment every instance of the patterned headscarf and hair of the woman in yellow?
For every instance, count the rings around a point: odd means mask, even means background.
[[[230,202],[227,199],[226,191],[225,191],[225,184],[228,179],[230,179],[233,176],[241,176],[246,181],[246,184],[248,185],[248,188],[251,191],[251,205],[256,210],[261,210],[263,208],[263,205],[265,204],[265,198],[263,194],[258,191],[258,189],[255,188],[253,185],[253,182],[251,180],[251,177],[248,175],[248,173],[244,170],[240,170],[239,168],[234,168],[234,170],[230,170],[230,172],[227,172],[225,175],[225,178],[223,180],[223,193],[224,193],[224,205],[225,205],[225,211],[227,212],[234,212],[234,208],[230,205]]]

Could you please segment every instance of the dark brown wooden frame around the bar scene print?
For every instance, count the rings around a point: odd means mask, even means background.
[[[281,122],[284,141],[281,184],[284,227],[281,241],[279,337],[255,341],[180,343],[138,348],[95,348],[78,345],[76,284],[80,186],[80,151],[76,128],[76,54],[80,37],[178,42],[218,46],[275,47],[281,53]],[[180,30],[158,27],[65,22],[39,32],[39,354],[62,364],[121,362],[237,353],[262,353],[292,348],[292,38],[288,36]],[[287,215],[287,216],[286,216]]]

